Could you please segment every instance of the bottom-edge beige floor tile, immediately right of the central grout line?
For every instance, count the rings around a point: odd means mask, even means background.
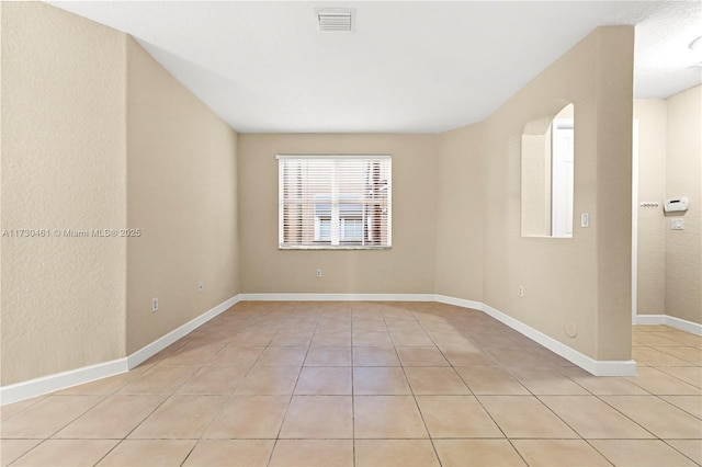
[[[439,467],[429,440],[358,440],[356,467]]]

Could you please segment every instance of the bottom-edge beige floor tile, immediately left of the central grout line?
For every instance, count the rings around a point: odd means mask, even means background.
[[[352,440],[279,440],[269,467],[353,467]]]

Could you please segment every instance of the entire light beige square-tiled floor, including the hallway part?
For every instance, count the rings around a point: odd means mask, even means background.
[[[2,407],[2,466],[694,466],[702,337],[593,377],[479,311],[240,303],[138,368]]]

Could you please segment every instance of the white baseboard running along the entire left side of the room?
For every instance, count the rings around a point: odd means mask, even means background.
[[[199,326],[229,309],[239,300],[240,298],[238,295],[229,298],[126,357],[99,363],[97,365],[83,366],[81,368],[70,369],[68,372],[57,373],[54,375],[47,375],[41,378],[16,383],[14,385],[2,386],[0,387],[0,406],[19,402],[24,399],[31,399],[36,396],[67,389],[72,386],[82,385],[94,381],[95,379],[106,378],[109,376],[128,372]]]

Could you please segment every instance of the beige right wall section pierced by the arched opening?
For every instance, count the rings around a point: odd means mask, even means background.
[[[633,29],[601,27],[485,122],[483,301],[597,360],[631,356],[632,82]],[[562,100],[575,105],[574,236],[523,238],[521,134]]]

